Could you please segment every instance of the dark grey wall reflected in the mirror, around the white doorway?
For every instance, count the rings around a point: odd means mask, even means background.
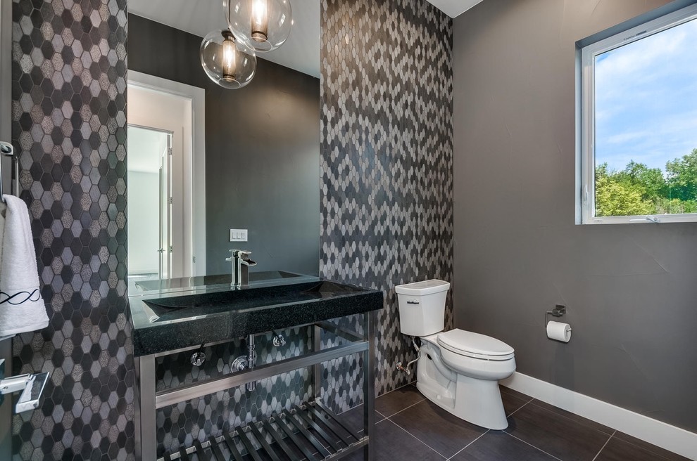
[[[129,15],[130,70],[206,90],[206,272],[232,248],[257,271],[319,271],[320,81],[257,60],[249,86],[225,90],[201,68],[201,37]],[[319,56],[318,56],[319,59]],[[249,229],[231,243],[230,228]]]

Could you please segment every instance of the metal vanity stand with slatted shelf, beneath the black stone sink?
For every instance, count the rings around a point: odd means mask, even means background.
[[[143,461],[315,461],[336,460],[356,450],[363,450],[364,459],[374,461],[375,443],[370,442],[375,440],[375,413],[373,412],[375,313],[375,311],[363,313],[363,333],[360,334],[324,320],[310,325],[299,325],[311,327],[308,339],[311,339],[312,346],[306,353],[161,391],[156,390],[156,354],[138,357],[137,371],[140,385],[137,403],[140,417],[137,420],[137,434],[142,453],[137,456],[137,459]],[[336,345],[327,344],[327,348],[322,349],[322,332],[342,339],[334,343]],[[195,349],[187,348],[174,352]],[[323,401],[322,364],[357,354],[361,358],[360,370],[363,375],[364,396],[363,412],[361,412],[363,424],[360,424],[364,431],[360,436],[348,430],[346,424],[341,422],[342,417],[337,417],[321,403]],[[167,353],[161,355],[167,355]],[[258,420],[260,422],[249,423],[244,427],[236,426],[234,429],[230,427],[227,429],[227,434],[208,438],[203,442],[194,441],[192,446],[185,446],[175,453],[164,456],[156,454],[156,411],[158,409],[303,368],[310,369],[309,401],[302,404],[298,402],[290,407],[291,410],[273,413],[266,421]],[[265,447],[263,441],[266,441],[269,447]],[[243,457],[241,453],[246,454]]]

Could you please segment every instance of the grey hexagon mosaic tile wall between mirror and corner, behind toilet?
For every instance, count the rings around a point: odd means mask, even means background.
[[[322,0],[321,15],[320,273],[386,292],[382,394],[408,382],[394,365],[415,357],[394,286],[452,280],[452,20],[420,0]],[[446,327],[452,312],[448,297]],[[351,396],[351,364],[336,366],[334,392]]]

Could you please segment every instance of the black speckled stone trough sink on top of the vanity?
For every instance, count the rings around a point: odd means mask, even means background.
[[[382,292],[320,281],[129,299],[135,356],[382,309]]]

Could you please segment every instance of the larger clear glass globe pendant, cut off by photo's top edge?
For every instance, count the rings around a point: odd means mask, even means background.
[[[290,34],[290,0],[223,0],[222,6],[230,31],[254,51],[275,50]]]

